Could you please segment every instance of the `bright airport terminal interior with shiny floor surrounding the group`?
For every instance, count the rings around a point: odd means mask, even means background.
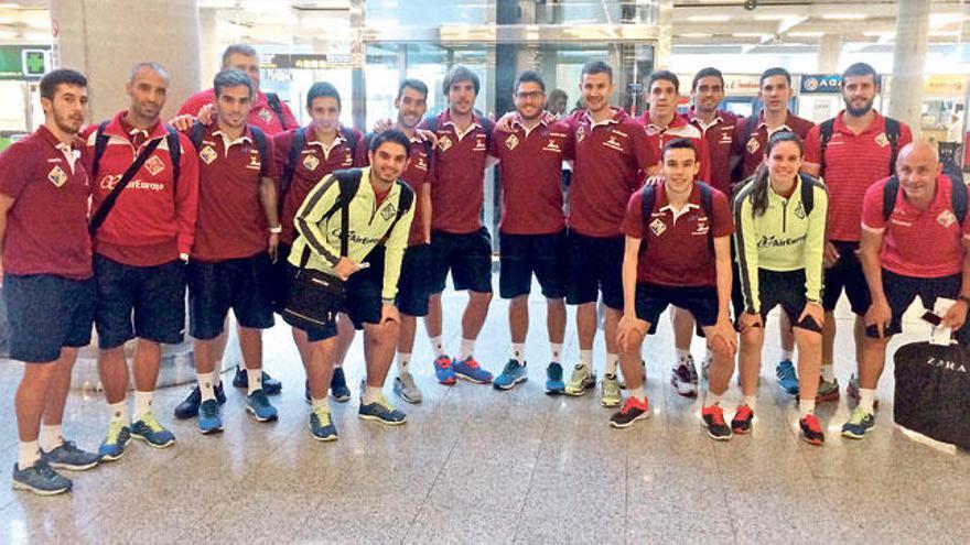
[[[311,85],[328,81],[343,99],[341,123],[362,132],[396,119],[405,78],[428,85],[429,115],[446,110],[442,86],[456,65],[479,78],[474,105],[483,116],[515,110],[515,80],[526,69],[542,76],[547,94],[564,91],[567,111],[583,108],[580,78],[589,61],[613,67],[612,103],[637,118],[647,111],[654,70],[677,75],[678,111],[687,112],[693,75],[716,67],[720,108],[746,117],[764,106],[759,75],[783,67],[791,74],[789,111],[821,123],[844,108],[843,70],[867,63],[881,80],[874,108],[908,123],[914,139],[930,142],[957,170],[970,170],[970,3],[963,0],[0,2],[0,150],[44,122],[39,81],[52,69],[87,76],[87,122],[97,123],[127,107],[131,66],[158,62],[170,75],[162,112],[170,120],[192,94],[213,87],[223,51],[238,43],[258,52],[260,90],[276,94],[301,126],[312,121]],[[498,296],[496,170],[485,171],[481,212],[493,233],[495,296],[474,357],[497,375],[513,348],[509,303]],[[442,340],[455,356],[467,298],[451,282],[441,298]],[[394,367],[385,386],[407,413],[402,426],[358,418],[366,368],[357,335],[344,359],[351,397],[330,401],[340,430],[332,443],[308,430],[305,372],[279,316],[263,334],[265,370],[282,382],[270,396],[279,419],[247,414],[246,388],[231,385],[241,355],[230,317],[220,361],[223,433],[203,435],[196,419],[173,416],[196,384],[186,334],[164,348],[153,401],[175,444],[154,449],[132,442],[117,461],[65,472],[74,481],[69,493],[42,497],[10,486],[20,445],[14,393],[24,364],[8,359],[3,305],[0,543],[970,542],[970,450],[894,422],[893,355],[930,337],[918,305],[888,345],[876,426],[856,440],[840,434],[855,407],[844,386],[858,370],[854,316],[844,297],[839,302],[833,364],[842,389],[836,401],[817,405],[822,446],[802,440],[796,396],[776,379],[778,309],[765,324],[753,430],[715,442],[701,417],[708,381],[700,379],[697,397],[671,384],[677,355],[669,313],[644,344],[650,417],[616,429],[610,426],[616,408],[602,406],[599,384],[582,396],[546,393],[546,308],[534,282],[528,380],[504,391],[462,380],[440,384],[435,351],[418,320],[410,369],[423,399],[411,404],[395,394]],[[569,305],[560,358],[567,378],[580,361],[575,326]],[[597,377],[604,335],[600,324]],[[694,338],[691,348],[700,364],[704,340]],[[130,360],[131,347],[126,352]],[[63,424],[66,439],[91,451],[110,417],[97,359],[96,344],[80,349]],[[967,368],[970,362],[959,380],[970,390]],[[732,414],[743,403],[736,379],[735,372],[724,394]],[[968,403],[964,394],[953,411],[970,417]]]

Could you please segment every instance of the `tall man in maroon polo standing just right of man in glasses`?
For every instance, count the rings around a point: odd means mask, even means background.
[[[644,128],[621,109],[610,106],[613,69],[602,61],[583,66],[580,79],[584,110],[567,122],[573,131],[574,170],[569,204],[569,273],[565,301],[579,305],[576,333],[580,362],[564,385],[567,395],[583,395],[596,385],[593,339],[596,301],[606,305],[606,373],[602,403],[621,403],[616,379],[616,325],[623,309],[623,249],[621,231],[629,196],[640,188],[645,174],[656,172],[657,150]]]

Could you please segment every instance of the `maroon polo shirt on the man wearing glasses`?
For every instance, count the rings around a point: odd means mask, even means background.
[[[562,160],[572,133],[562,122],[540,122],[530,131],[516,118],[511,132],[495,129],[492,155],[498,157],[502,183],[499,231],[549,235],[565,228],[562,210]]]

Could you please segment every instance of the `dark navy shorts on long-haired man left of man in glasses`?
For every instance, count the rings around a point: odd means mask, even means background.
[[[455,291],[492,293],[492,237],[482,228],[465,235],[431,231],[431,293],[444,291],[448,273]]]

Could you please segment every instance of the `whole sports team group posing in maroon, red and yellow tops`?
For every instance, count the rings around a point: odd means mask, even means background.
[[[160,119],[169,76],[158,64],[134,66],[129,108],[89,126],[85,77],[47,74],[44,124],[0,154],[11,358],[26,362],[15,396],[13,487],[64,492],[72,481],[57,469],[117,460],[131,438],[158,448],[175,443],[152,393],[161,345],[183,340],[186,286],[197,384],[175,416],[197,418],[203,434],[223,428],[229,309],[244,361],[233,385],[246,390],[247,412],[258,422],[278,418],[269,396],[281,384],[262,369],[261,331],[279,314],[298,324],[310,433],[328,442],[338,436],[328,396],[351,399],[341,366],[356,330],[364,331],[366,366],[362,418],[406,422],[382,394],[395,361],[395,393],[421,402],[409,371],[418,317],[440,383],[508,390],[525,381],[535,277],[547,301],[547,393],[584,395],[599,380],[603,406],[616,408],[612,426],[648,417],[642,346],[671,307],[671,384],[698,395],[697,331],[708,346],[701,414],[708,434],[722,440],[752,429],[764,326],[780,306],[778,383],[797,395],[801,434],[813,445],[824,440],[816,403],[840,397],[832,310],[844,291],[856,315],[858,380],[849,384],[856,407],[842,434],[862,438],[875,425],[886,345],[917,296],[927,308],[952,299],[941,324],[964,340],[966,186],[942,174],[929,143],[913,142],[908,127],[873,109],[880,78],[869,65],[845,70],[845,109],[819,126],[788,110],[785,69],[766,70],[759,85],[763,110],[736,118],[718,108],[721,73],[705,68],[681,116],[680,81],[657,70],[645,86],[649,109],[634,118],[611,105],[612,69],[593,61],[581,73],[583,108],[550,113],[542,77],[525,72],[515,83],[516,111],[493,121],[474,109],[478,77],[455,66],[442,86],[445,111],[425,117],[427,85],[406,79],[397,119],[363,134],[341,124],[341,96],[327,83],[308,91],[311,122],[300,127],[285,103],[259,90],[247,45],[226,50],[213,88],[191,97],[170,123]],[[496,162],[499,295],[509,299],[511,355],[493,377],[474,352],[492,301],[492,240],[481,210],[485,171]],[[564,167],[572,171],[568,199]],[[306,271],[344,282],[335,319],[313,323],[288,304]],[[449,273],[454,290],[468,294],[455,357],[442,342]],[[606,360],[597,378],[600,301]],[[568,380],[567,304],[576,306],[580,349]],[[111,413],[97,453],[65,440],[61,424],[93,324]],[[132,339],[129,415],[125,345]],[[729,421],[722,405],[735,356],[743,401]]]

